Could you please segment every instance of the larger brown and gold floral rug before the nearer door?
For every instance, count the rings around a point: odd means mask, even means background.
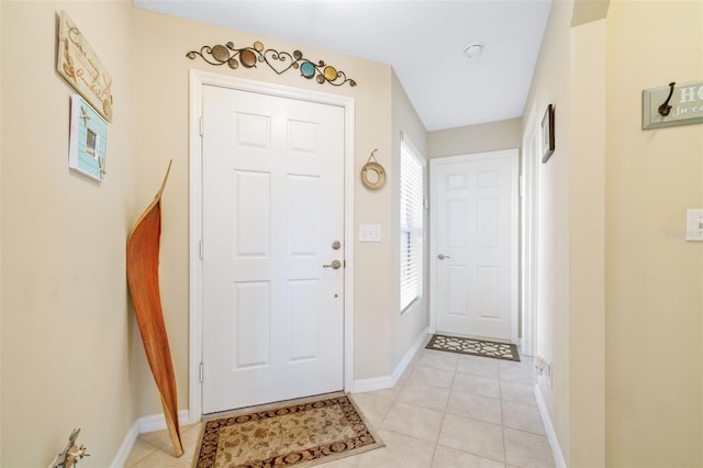
[[[347,395],[204,424],[196,467],[302,468],[383,447]]]

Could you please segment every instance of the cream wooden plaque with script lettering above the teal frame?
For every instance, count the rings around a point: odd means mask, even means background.
[[[56,69],[108,122],[112,122],[112,78],[81,34],[62,11]]]

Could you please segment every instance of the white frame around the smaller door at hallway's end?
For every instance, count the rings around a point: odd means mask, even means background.
[[[471,160],[487,159],[492,156],[499,156],[499,154],[510,154],[511,159],[511,211],[512,216],[510,220],[511,225],[511,238],[510,244],[514,254],[511,256],[510,260],[510,269],[511,269],[511,342],[517,344],[518,343],[518,297],[520,297],[520,282],[518,282],[518,218],[520,218],[520,202],[518,202],[518,149],[510,148],[510,149],[499,149],[493,152],[482,152],[475,154],[466,154],[458,156],[443,156],[429,159],[429,185],[431,185],[431,200],[432,204],[437,202],[437,181],[435,179],[437,172],[437,166],[443,164],[456,164],[456,163],[468,163]],[[429,242],[429,330],[431,333],[435,333],[437,331],[437,236],[435,233],[437,232],[437,210],[431,210],[431,242]]]

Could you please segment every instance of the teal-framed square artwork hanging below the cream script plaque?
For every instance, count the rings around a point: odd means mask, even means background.
[[[80,94],[70,103],[68,167],[104,182],[108,124]]]

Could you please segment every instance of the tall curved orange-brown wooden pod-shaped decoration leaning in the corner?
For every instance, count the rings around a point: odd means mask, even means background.
[[[178,424],[178,395],[174,363],[168,346],[161,298],[158,286],[158,257],[161,234],[161,193],[166,187],[171,163],[154,201],[136,222],[127,241],[127,282],[136,320],[144,343],[146,358],[156,387],[161,395],[166,425],[174,445],[174,456],[183,454]]]

